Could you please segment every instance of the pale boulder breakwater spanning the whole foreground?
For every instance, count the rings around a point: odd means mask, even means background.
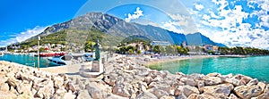
[[[268,99],[269,85],[244,75],[185,75],[145,68],[137,58],[105,64],[100,80],[72,78],[0,62],[0,98]]]

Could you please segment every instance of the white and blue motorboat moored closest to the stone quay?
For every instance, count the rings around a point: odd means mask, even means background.
[[[52,65],[56,65],[56,66],[61,66],[61,65],[67,65],[67,63],[65,62],[65,60],[71,60],[73,57],[66,57],[65,55],[62,56],[54,56],[54,57],[48,57],[48,61],[52,64]]]

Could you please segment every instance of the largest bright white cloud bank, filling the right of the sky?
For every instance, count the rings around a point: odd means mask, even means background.
[[[207,12],[209,14],[202,14],[203,20],[198,23],[203,25],[199,27],[199,31],[206,37],[210,37],[213,41],[225,45],[251,46],[268,49],[269,31],[265,31],[261,26],[269,27],[269,16],[266,15],[269,2],[257,2],[258,3],[254,3],[258,4],[262,10],[248,13],[243,11],[242,5],[235,5],[234,9],[226,10],[224,7],[228,4],[225,0],[213,0],[213,3],[217,4],[218,8],[208,10]],[[250,4],[253,3],[249,3],[247,6],[254,7]],[[197,14],[193,15],[199,16]],[[255,23],[254,27],[258,27],[259,29],[252,29],[250,23],[243,23],[244,19],[247,19],[248,16],[252,17],[253,15],[258,16],[259,21]]]

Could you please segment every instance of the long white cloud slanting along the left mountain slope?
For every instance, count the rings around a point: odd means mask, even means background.
[[[0,46],[5,46],[5,45],[10,45],[16,42],[22,42],[30,37],[36,36],[42,31],[44,31],[47,27],[35,27],[34,29],[27,29],[26,31],[23,31],[19,34],[17,34],[15,37],[11,37],[6,40],[1,40],[0,41]]]

